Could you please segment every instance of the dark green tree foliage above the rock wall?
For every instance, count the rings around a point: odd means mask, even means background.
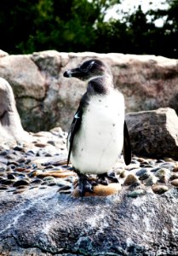
[[[44,49],[121,52],[178,58],[178,0],[169,9],[141,6],[105,20],[118,0],[6,0],[0,9],[0,48],[11,54]],[[148,19],[149,17],[149,19]],[[158,27],[155,20],[164,19]]]

